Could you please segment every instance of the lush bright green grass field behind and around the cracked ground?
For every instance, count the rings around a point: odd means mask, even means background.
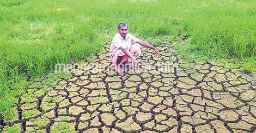
[[[187,61],[225,58],[256,70],[256,1],[0,1],[0,114],[56,63],[81,60],[111,41],[119,22]],[[185,42],[180,42],[186,40]]]

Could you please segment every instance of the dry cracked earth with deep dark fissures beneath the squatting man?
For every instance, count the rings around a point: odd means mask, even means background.
[[[255,132],[256,82],[225,66],[186,63],[172,46],[142,48],[140,69],[117,74],[109,45],[94,62],[74,65],[54,88],[31,87],[19,99],[21,132]],[[128,69],[126,69],[128,70]],[[33,96],[33,97],[30,97]]]

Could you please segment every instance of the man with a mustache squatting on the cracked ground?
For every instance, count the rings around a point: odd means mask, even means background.
[[[109,61],[114,63],[115,70],[118,72],[123,71],[121,64],[126,64],[128,59],[132,60],[133,67],[138,67],[138,61],[133,56],[136,53],[141,54],[141,45],[153,49],[157,57],[160,57],[160,52],[154,46],[148,44],[141,39],[138,39],[128,32],[128,25],[121,22],[118,25],[118,34],[112,40],[111,48],[109,51]]]

